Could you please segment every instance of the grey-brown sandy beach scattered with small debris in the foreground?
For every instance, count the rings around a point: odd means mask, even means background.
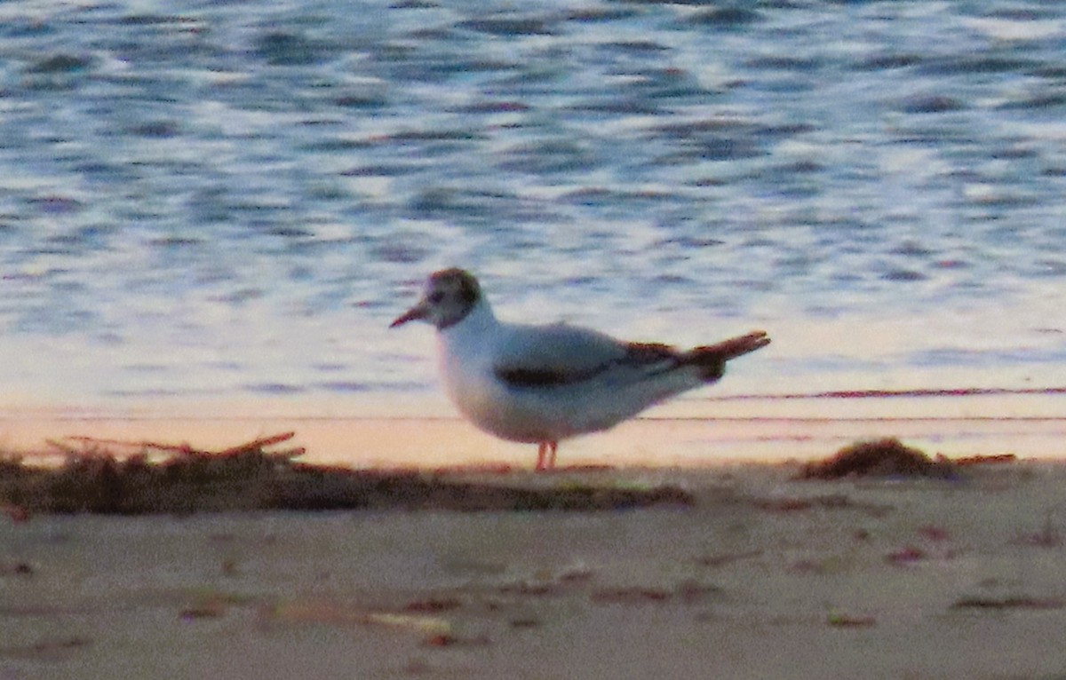
[[[1063,678],[1066,466],[451,472],[589,512],[0,519],[0,678]]]

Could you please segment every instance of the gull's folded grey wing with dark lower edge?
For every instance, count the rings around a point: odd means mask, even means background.
[[[565,324],[513,326],[494,370],[512,387],[559,387],[589,381],[615,367],[658,373],[679,365],[672,347],[619,342]]]

